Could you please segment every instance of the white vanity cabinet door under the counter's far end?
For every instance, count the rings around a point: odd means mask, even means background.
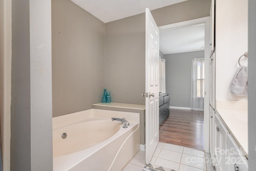
[[[226,147],[227,147],[227,136],[229,131],[224,126],[218,115],[214,117],[214,154],[215,161],[214,165],[216,171],[226,171]]]

